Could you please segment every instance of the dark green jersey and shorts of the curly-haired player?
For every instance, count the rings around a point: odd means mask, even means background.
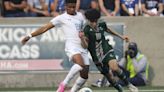
[[[97,28],[92,28],[90,25],[84,27],[84,34],[88,38],[88,50],[94,62],[108,62],[115,59],[115,54],[108,40],[105,39],[104,32],[107,31],[105,22],[97,24]],[[110,52],[109,52],[110,51]]]

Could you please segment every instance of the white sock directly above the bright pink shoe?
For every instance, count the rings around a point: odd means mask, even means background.
[[[79,72],[81,71],[83,68],[78,65],[78,64],[74,64],[71,67],[71,70],[69,71],[69,73],[67,74],[66,78],[64,79],[63,83],[65,85],[67,85],[69,83],[69,81]]]

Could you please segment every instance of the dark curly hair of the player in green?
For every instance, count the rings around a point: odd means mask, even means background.
[[[100,16],[100,11],[97,9],[89,9],[85,12],[85,17],[91,22],[97,21]]]

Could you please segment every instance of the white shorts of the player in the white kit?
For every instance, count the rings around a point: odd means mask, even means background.
[[[84,64],[85,65],[90,65],[90,61],[89,61],[89,57],[88,57],[88,52],[85,51],[85,52],[82,52],[80,49],[65,49],[65,52],[69,58],[69,61],[72,60],[72,57],[76,54],[81,54],[82,58],[83,58],[83,61],[84,61]]]

